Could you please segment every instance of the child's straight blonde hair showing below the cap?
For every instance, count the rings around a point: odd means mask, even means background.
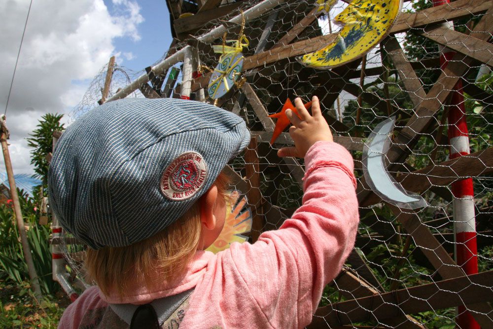
[[[231,179],[221,172],[214,184],[218,199],[228,199]],[[125,294],[130,281],[143,280],[146,287],[159,281],[172,281],[183,274],[201,237],[200,201],[181,218],[161,232],[125,247],[87,248],[85,267],[87,279],[95,282],[104,294],[117,290]]]

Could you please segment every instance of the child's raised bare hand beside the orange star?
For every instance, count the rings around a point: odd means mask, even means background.
[[[316,142],[332,142],[332,133],[327,121],[322,116],[317,96],[312,98],[313,116],[305,109],[300,98],[294,100],[294,105],[298,110],[299,117],[292,110],[286,110],[286,116],[293,124],[289,127],[289,135],[294,141],[294,147],[282,147],[278,151],[278,155],[281,157],[296,156],[304,158],[308,149]]]

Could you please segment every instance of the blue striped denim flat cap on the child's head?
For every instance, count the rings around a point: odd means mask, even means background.
[[[64,132],[48,174],[64,229],[94,249],[128,246],[182,216],[248,144],[245,121],[178,99],[124,99]]]

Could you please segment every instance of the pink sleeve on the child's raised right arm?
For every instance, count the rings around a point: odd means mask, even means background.
[[[311,322],[323,288],[354,246],[359,221],[351,154],[336,143],[317,142],[305,166],[303,204],[292,218],[253,245],[232,245],[228,255],[275,328]]]

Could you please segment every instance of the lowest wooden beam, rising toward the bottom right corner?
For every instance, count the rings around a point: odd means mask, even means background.
[[[493,300],[492,281],[493,271],[488,271],[334,303],[318,308],[308,328],[322,328],[327,325],[337,327],[388,319],[402,313],[415,314],[464,304],[486,303]]]

